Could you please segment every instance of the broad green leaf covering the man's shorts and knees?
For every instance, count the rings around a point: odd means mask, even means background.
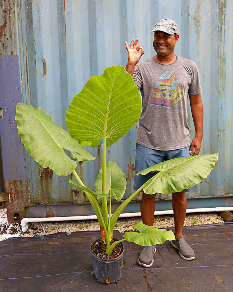
[[[146,194],[181,192],[206,178],[217,160],[218,153],[174,158],[150,166],[136,175],[157,173],[143,187]]]

